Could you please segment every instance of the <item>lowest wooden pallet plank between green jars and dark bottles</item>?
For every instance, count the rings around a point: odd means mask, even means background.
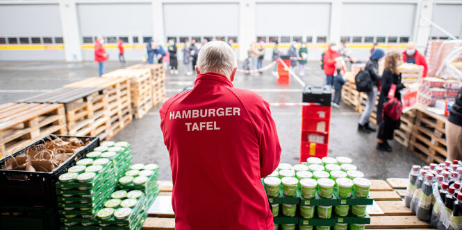
[[[430,223],[419,220],[415,215],[384,215],[371,216],[370,224],[365,227],[367,229],[414,229],[429,228]]]

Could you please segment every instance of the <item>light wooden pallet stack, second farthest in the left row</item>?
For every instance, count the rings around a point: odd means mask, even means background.
[[[135,118],[142,118],[153,106],[153,80],[149,69],[117,69],[103,75],[104,78],[129,78],[131,109]]]

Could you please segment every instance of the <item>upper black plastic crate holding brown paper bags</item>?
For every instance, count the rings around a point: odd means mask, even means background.
[[[28,172],[22,170],[0,170],[0,204],[1,206],[26,206],[56,208],[56,182],[58,177],[67,171],[67,168],[74,166],[77,160],[86,153],[99,146],[99,138],[94,136],[61,136],[76,137],[90,141],[84,148],[76,152],[67,161],[62,163],[53,172]],[[55,139],[55,136],[44,137],[40,141],[28,145],[26,148],[13,153],[13,156],[22,154],[27,148],[43,144],[48,138]],[[10,157],[9,155],[0,159],[0,166],[3,166]],[[26,179],[16,179],[24,177]]]

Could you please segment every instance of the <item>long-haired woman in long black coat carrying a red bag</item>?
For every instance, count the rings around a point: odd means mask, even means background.
[[[391,152],[392,148],[387,140],[393,139],[393,132],[399,128],[399,119],[393,121],[392,118],[383,114],[383,103],[387,101],[388,91],[392,85],[396,85],[395,98],[401,100],[401,89],[406,88],[401,83],[401,73],[398,67],[402,64],[402,55],[398,52],[387,53],[385,57],[385,69],[382,75],[382,86],[379,96],[379,105],[377,105],[377,124],[379,132],[377,133],[377,150]]]

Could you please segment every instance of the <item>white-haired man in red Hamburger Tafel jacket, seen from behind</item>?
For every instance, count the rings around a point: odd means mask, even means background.
[[[194,88],[160,109],[175,229],[274,229],[261,178],[281,147],[268,103],[233,87],[234,58],[225,42],[202,46]]]

